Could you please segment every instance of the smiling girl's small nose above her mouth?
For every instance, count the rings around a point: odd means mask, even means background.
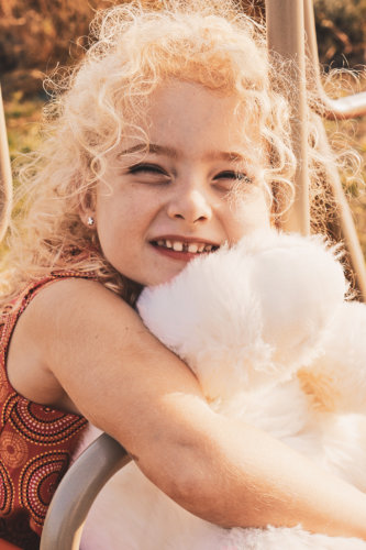
[[[212,210],[208,199],[198,189],[189,189],[175,196],[167,209],[169,218],[185,220],[188,223],[211,219]]]

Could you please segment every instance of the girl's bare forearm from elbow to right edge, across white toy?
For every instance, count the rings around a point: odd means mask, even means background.
[[[181,506],[223,527],[301,524],[366,539],[363,493],[255,428],[220,416],[206,428],[201,442],[177,453],[169,486],[164,471],[162,488]]]

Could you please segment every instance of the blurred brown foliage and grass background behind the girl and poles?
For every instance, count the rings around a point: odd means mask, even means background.
[[[12,158],[37,146],[43,79],[57,66],[74,64],[88,47],[88,26],[98,9],[127,0],[0,0],[0,80]],[[145,0],[158,7],[158,0]],[[264,0],[242,0],[255,19],[264,18]],[[330,68],[366,66],[366,0],[314,0],[320,61]],[[364,78],[344,78],[340,94],[366,89]],[[366,117],[328,123],[330,133],[347,135],[366,164]],[[348,189],[359,239],[366,254],[366,193]]]

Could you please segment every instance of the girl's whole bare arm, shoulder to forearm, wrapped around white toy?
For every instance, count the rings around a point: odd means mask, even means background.
[[[15,328],[9,376],[79,410],[162,491],[225,527],[293,526],[366,539],[366,496],[243,422],[213,413],[190,370],[95,282],[43,289]]]

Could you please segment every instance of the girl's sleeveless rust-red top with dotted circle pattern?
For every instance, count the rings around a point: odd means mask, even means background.
[[[54,273],[30,285],[15,310],[0,318],[0,539],[23,550],[40,548],[51,498],[68,469],[87,420],[25,399],[10,385],[5,360],[20,315],[46,285],[90,274]]]

